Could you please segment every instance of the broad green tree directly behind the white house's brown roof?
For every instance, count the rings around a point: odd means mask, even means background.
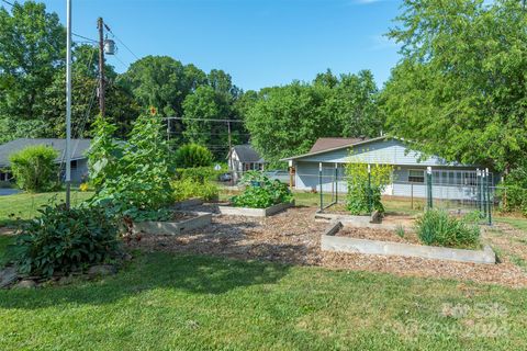
[[[319,137],[379,136],[383,115],[370,71],[317,75],[312,84],[293,82],[249,95],[246,127],[268,161],[304,154]],[[244,110],[242,110],[244,111]]]

